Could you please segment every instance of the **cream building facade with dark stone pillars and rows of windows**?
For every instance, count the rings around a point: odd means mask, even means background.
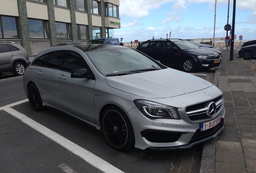
[[[114,38],[119,0],[0,0],[0,41],[30,55],[61,42]]]

